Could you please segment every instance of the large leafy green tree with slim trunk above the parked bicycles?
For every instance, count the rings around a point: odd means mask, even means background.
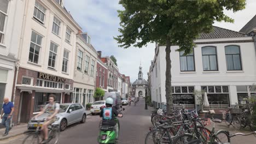
[[[166,102],[171,112],[171,45],[190,53],[200,33],[209,33],[214,21],[233,22],[224,9],[238,11],[246,0],[120,0],[119,32],[114,39],[120,47],[142,47],[147,43],[166,45]]]

